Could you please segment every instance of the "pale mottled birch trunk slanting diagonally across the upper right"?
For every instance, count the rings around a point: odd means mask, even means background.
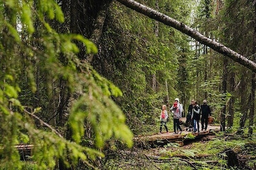
[[[133,0],[116,0],[116,1],[120,2],[121,4],[126,5],[126,7],[129,7],[130,9],[133,9],[139,13],[142,13],[142,14],[148,16],[149,18],[155,19],[159,22],[162,22],[165,25],[169,25],[169,26],[173,27],[174,29],[179,30],[182,33],[185,33],[186,35],[201,42],[205,46],[208,46],[208,47],[212,48],[213,50],[216,50],[216,52],[219,52],[219,53],[231,58],[232,60],[240,63],[241,65],[247,67],[248,69],[250,69],[256,73],[256,63],[254,63],[251,60],[248,60],[246,57],[240,55],[239,53],[236,53],[235,51],[229,49],[228,47],[224,46],[223,44],[216,42],[214,39],[205,37],[201,33],[197,32],[197,30],[191,29],[184,23],[179,22],[176,19],[173,19],[167,15],[164,15],[163,13],[157,12],[156,10],[146,7],[145,5],[140,4]]]

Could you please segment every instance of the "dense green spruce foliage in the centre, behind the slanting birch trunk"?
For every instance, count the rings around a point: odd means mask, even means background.
[[[142,3],[155,8],[155,1]],[[183,22],[188,22],[188,4],[189,1],[158,1],[160,12]],[[183,84],[177,85],[177,77],[182,62],[180,51],[183,46],[189,48],[187,36],[116,2],[105,25],[101,40],[104,58],[96,58],[93,67],[122,90],[123,97],[114,99],[127,115],[133,133],[154,132],[158,129],[157,108],[167,103],[166,81],[169,97],[181,96]],[[155,91],[152,75],[157,80]]]

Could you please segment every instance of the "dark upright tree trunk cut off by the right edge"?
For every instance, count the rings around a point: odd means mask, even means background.
[[[252,49],[252,53],[254,54],[254,61],[256,61],[256,0],[254,1],[254,47]],[[252,135],[252,126],[254,126],[254,108],[255,108],[255,73],[252,73],[252,89],[251,89],[251,97],[252,97],[252,102],[251,102],[251,109],[250,109],[250,114],[249,114],[249,130],[248,133]]]

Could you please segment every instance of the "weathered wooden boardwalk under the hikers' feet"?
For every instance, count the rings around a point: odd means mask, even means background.
[[[186,118],[182,118],[182,121],[185,122]],[[201,126],[201,123],[200,123]],[[201,127],[200,127],[201,128]],[[181,134],[174,134],[173,130],[169,133],[162,134],[152,134],[152,135],[138,135],[134,138],[134,141],[137,143],[144,143],[144,141],[148,141],[148,143],[161,144],[161,143],[169,143],[178,141],[183,145],[184,141],[194,140],[196,138],[204,137],[205,135],[214,135],[215,132],[220,131],[220,126],[213,126],[212,124],[208,124],[207,131],[198,132],[189,132],[183,128]],[[193,135],[193,136],[191,136]],[[192,138],[191,138],[192,137]]]

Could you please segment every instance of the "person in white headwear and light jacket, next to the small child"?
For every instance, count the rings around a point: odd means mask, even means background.
[[[182,118],[182,112],[183,112],[183,106],[180,104],[179,98],[176,98],[174,100],[174,103],[171,106],[171,109],[173,110],[173,127],[174,127],[174,133],[177,134],[177,128],[179,129],[179,134],[182,132],[182,128],[180,127],[180,121]]]

